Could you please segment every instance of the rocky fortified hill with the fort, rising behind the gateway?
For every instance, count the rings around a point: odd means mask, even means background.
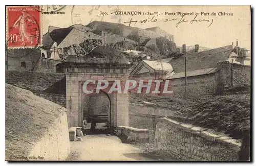
[[[87,34],[84,29],[89,29],[92,33],[100,36],[102,31],[113,34],[105,36],[105,46],[118,51],[137,50],[156,60],[172,57],[176,53],[173,35],[159,27],[140,29],[119,23],[93,21],[87,26],[74,25],[69,28],[53,30],[50,36],[44,35],[44,37],[62,45],[58,46],[58,53],[62,60],[66,60],[67,56],[84,56],[96,46],[103,45],[103,39],[85,37]],[[123,37],[124,39],[122,39]],[[117,40],[113,40],[113,38]],[[44,40],[46,41],[46,39]]]

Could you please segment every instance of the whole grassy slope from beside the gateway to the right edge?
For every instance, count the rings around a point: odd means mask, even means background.
[[[152,97],[145,94],[130,94],[129,102],[154,103],[153,107],[172,108],[174,120],[212,129],[241,139],[250,129],[250,101],[235,97],[219,97],[203,103],[189,103],[170,97]]]

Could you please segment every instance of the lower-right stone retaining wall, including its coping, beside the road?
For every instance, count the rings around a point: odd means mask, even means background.
[[[235,161],[241,143],[207,129],[168,118],[157,120],[154,147],[158,153],[177,160]]]

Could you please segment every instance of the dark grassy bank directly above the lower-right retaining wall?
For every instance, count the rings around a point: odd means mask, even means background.
[[[221,97],[182,109],[172,118],[241,139],[250,129],[250,101]]]

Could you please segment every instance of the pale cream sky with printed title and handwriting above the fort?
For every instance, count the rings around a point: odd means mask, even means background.
[[[52,10],[52,7],[43,8]],[[116,15],[115,11],[141,12],[141,15]],[[94,20],[129,26],[129,23],[124,22],[132,19],[137,23],[132,22],[131,27],[160,27],[174,35],[177,46],[199,44],[213,49],[236,43],[238,39],[240,47],[250,50],[250,6],[66,6],[58,12],[65,14],[42,14],[42,34],[48,31],[49,26],[66,28],[78,23],[88,25]],[[232,15],[218,15],[220,12]],[[181,14],[177,15],[178,13],[193,15],[185,15],[182,18]],[[145,23],[140,22],[145,19]],[[155,19],[157,20],[154,22]],[[192,20],[197,21],[191,22]]]

